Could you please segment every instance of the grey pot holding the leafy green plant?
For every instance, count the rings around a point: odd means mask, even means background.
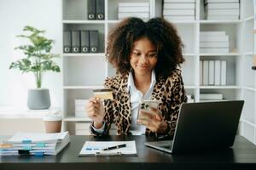
[[[31,110],[49,109],[49,89],[33,88],[28,90],[27,107]]]

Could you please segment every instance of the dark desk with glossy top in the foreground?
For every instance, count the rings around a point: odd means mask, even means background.
[[[135,139],[138,156],[78,157],[85,140]],[[71,143],[58,156],[0,156],[0,170],[134,170],[134,169],[256,169],[256,146],[241,136],[227,150],[183,155],[166,154],[148,148],[144,136],[111,136],[97,139],[92,136],[72,136]]]

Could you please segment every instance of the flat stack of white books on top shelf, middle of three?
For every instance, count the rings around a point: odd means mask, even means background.
[[[163,17],[166,20],[195,20],[195,0],[164,0]]]

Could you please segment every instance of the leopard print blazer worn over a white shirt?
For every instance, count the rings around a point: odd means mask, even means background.
[[[94,135],[108,134],[111,124],[114,122],[117,135],[127,135],[131,128],[131,103],[130,94],[127,91],[128,75],[117,75],[116,77],[108,77],[105,80],[105,87],[113,89],[113,100],[104,100],[105,108],[105,128],[103,133],[96,133],[92,128],[90,131]],[[160,78],[154,84],[151,99],[160,102],[159,111],[163,119],[168,124],[167,136],[173,137],[177,114],[180,105],[186,102],[187,97],[184,92],[183,79],[180,70],[172,71],[172,74],[165,79]],[[157,136],[157,133],[146,129],[146,135]]]

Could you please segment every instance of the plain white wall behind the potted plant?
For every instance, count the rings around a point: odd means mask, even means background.
[[[15,36],[23,33],[24,26],[45,30],[45,36],[55,40],[52,52],[61,54],[61,5],[61,0],[0,0],[0,106],[25,107],[27,89],[35,88],[32,73],[9,70],[10,63],[20,58],[14,48],[24,40]],[[61,59],[55,61],[61,66]],[[43,87],[50,90],[52,106],[61,107],[61,73],[46,73]]]

